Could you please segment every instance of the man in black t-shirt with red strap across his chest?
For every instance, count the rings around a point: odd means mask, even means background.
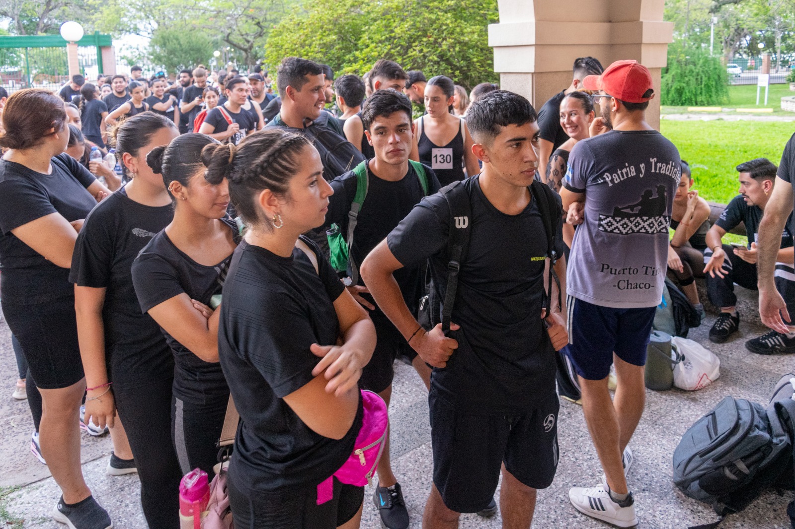
[[[199,132],[224,143],[238,145],[246,134],[254,132],[256,123],[251,114],[242,108],[248,98],[246,79],[235,77],[227,83],[227,102],[207,113]]]

